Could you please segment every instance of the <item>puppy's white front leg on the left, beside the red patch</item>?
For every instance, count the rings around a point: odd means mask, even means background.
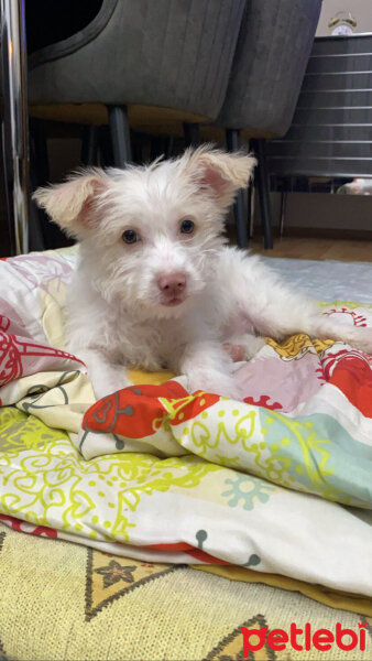
[[[84,348],[76,349],[75,353],[87,367],[88,378],[92,383],[97,399],[131,386],[125,367],[110,362],[110,359],[98,349]]]

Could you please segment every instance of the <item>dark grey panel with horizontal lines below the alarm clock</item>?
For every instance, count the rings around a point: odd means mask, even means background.
[[[317,37],[273,174],[372,176],[372,34]]]

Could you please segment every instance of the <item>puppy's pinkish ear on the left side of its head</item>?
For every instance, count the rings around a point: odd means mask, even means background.
[[[64,184],[37,188],[32,197],[51,220],[68,235],[80,238],[95,225],[95,203],[108,185],[108,175],[97,167],[75,174]]]

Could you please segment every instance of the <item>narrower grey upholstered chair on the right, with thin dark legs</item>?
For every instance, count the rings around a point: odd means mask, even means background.
[[[284,136],[296,108],[321,0],[248,0],[223,106],[216,121],[230,149],[254,139],[265,247],[272,248],[265,139]],[[247,246],[243,195],[238,196],[238,243]]]

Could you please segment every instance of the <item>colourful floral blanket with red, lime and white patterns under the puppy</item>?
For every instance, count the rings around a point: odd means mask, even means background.
[[[372,596],[372,358],[305,335],[237,364],[244,402],[131,372],[95,402],[64,349],[75,250],[0,262],[0,519],[164,562]],[[372,325],[372,308],[324,307]]]

